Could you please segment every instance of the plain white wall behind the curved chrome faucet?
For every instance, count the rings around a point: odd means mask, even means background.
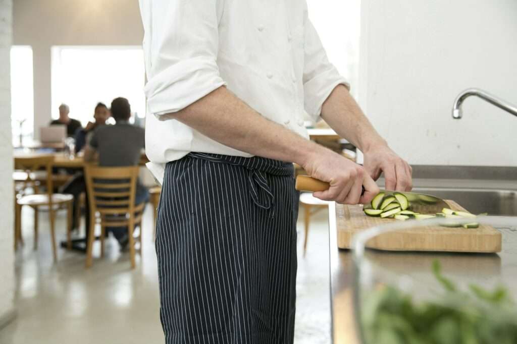
[[[517,1],[362,0],[359,100],[410,163],[517,166],[517,118],[457,94],[517,104]]]

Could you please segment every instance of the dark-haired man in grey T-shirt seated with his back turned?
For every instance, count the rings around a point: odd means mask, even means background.
[[[98,127],[84,151],[84,160],[92,161],[98,155],[99,166],[135,166],[140,162],[142,149],[145,148],[144,129],[128,122],[131,117],[131,106],[125,98],[116,98],[111,103],[111,114],[115,119],[114,126]],[[149,192],[141,184],[136,185],[135,205],[149,200]],[[89,216],[86,216],[88,219]],[[88,222],[88,220],[87,220]],[[89,227],[87,227],[89,228]],[[113,232],[120,246],[128,243],[127,228],[107,228]]]

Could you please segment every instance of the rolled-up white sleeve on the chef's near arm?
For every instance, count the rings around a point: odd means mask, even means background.
[[[141,0],[150,113],[174,113],[225,82],[217,52],[218,1]]]

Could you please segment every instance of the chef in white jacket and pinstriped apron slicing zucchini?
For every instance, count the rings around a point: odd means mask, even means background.
[[[305,0],[140,0],[140,8],[146,153],[163,185],[165,342],[292,343],[292,163],[330,183],[314,196],[342,204],[369,202],[382,172],[387,189],[410,190],[411,167],[328,61]],[[305,118],[325,119],[364,152],[364,167],[310,142]]]

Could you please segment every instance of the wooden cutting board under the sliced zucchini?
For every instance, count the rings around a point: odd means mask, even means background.
[[[465,211],[454,201],[446,202],[450,209]],[[399,221],[367,216],[362,206],[336,205],[336,217],[340,248],[350,248],[352,237],[358,231]],[[427,226],[384,233],[371,239],[367,246],[386,251],[494,253],[501,251],[501,233],[487,225],[469,229]]]

